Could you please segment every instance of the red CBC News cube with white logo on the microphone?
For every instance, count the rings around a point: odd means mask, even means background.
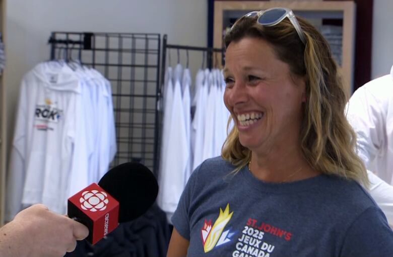
[[[95,244],[117,227],[119,202],[93,183],[68,199],[68,216],[89,228],[86,239]]]

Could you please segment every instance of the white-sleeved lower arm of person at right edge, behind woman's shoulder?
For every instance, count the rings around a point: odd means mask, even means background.
[[[390,227],[393,227],[393,186],[390,186],[368,170],[367,173],[371,184],[370,194],[385,214]]]

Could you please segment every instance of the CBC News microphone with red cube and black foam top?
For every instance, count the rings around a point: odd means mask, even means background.
[[[141,163],[126,162],[110,169],[68,199],[68,216],[89,228],[86,238],[95,244],[113,231],[118,222],[134,220],[153,205],[158,184],[150,169]]]

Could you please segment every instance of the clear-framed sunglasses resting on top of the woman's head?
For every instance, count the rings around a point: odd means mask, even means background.
[[[295,15],[293,14],[292,10],[287,9],[287,8],[271,8],[265,11],[253,11],[250,12],[243,17],[255,17],[257,16],[257,23],[263,26],[271,27],[279,24],[282,22],[285,18],[288,18],[289,21],[292,23],[293,27],[295,28],[297,34],[299,35],[300,40],[303,42],[303,44],[306,44],[306,38],[304,36],[303,30],[301,29],[299,22],[297,21]],[[238,19],[232,26],[235,27],[236,23],[239,21]],[[232,29],[231,28],[231,29]]]

